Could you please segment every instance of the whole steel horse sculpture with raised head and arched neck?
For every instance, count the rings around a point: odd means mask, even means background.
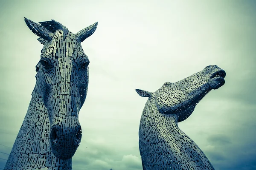
[[[226,73],[216,65],[175,83],[166,82],[156,92],[136,89],[148,97],[139,130],[143,170],[213,170],[203,151],[177,123],[187,119],[195,105],[212,89],[224,85]]]

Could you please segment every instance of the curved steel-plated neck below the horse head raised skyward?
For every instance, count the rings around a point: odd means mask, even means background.
[[[177,119],[177,115],[162,114],[152,105],[150,109],[145,107],[140,122],[140,149],[145,150],[142,157],[150,156],[148,159],[154,163],[144,162],[144,166],[148,166],[148,169],[161,169],[166,166],[175,170],[192,167],[214,169],[198,145],[180,130]],[[148,149],[149,147],[151,149]],[[155,158],[151,158],[152,155]],[[163,160],[159,161],[161,158]],[[166,162],[166,165],[163,165],[163,162]]]

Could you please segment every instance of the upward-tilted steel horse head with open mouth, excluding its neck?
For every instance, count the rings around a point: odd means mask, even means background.
[[[208,65],[202,71],[178,82],[165,82],[156,92],[151,93],[136,89],[143,97],[149,97],[154,102],[160,114],[177,115],[177,122],[187,119],[195,106],[212,89],[224,85],[226,72],[217,65]]]

